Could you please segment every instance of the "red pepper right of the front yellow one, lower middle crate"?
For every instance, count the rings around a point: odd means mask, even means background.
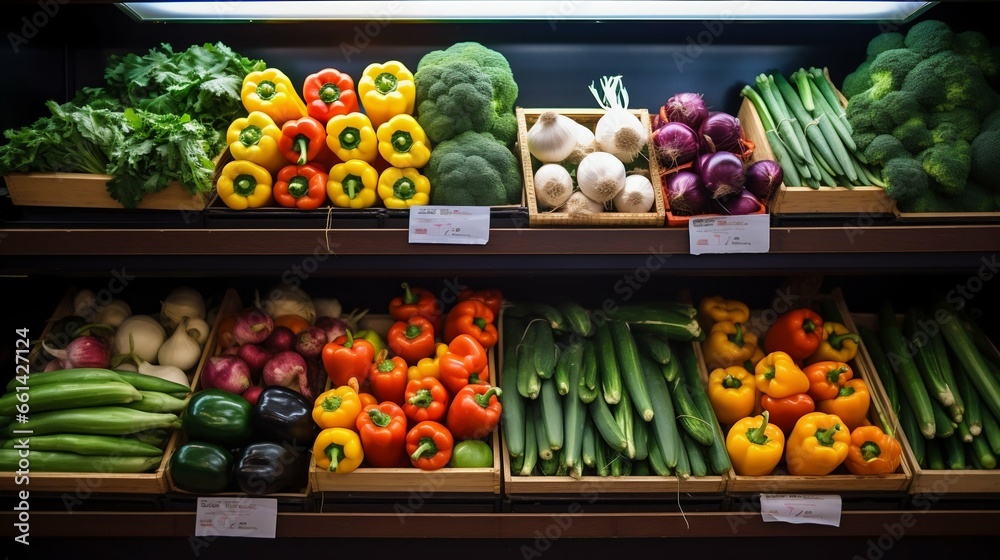
[[[393,402],[368,405],[355,425],[365,450],[365,462],[372,467],[409,465],[406,456],[408,420],[403,409]]]

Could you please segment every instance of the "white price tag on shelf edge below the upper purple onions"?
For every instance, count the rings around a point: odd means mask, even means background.
[[[766,253],[771,248],[771,216],[706,216],[688,221],[691,254]]]

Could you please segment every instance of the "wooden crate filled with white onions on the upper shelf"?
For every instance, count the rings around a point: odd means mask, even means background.
[[[620,99],[619,86],[618,78],[602,80],[605,98]],[[663,225],[660,170],[649,157],[649,111],[614,101],[602,107],[517,108],[530,226]]]

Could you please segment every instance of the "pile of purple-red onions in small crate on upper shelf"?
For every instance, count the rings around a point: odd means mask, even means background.
[[[692,216],[763,214],[781,185],[781,166],[753,157],[740,119],[709,110],[701,94],[672,95],[652,128],[669,226],[687,226]]]

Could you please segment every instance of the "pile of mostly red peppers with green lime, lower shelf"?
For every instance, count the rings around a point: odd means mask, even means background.
[[[323,348],[332,386],[313,408],[316,466],[491,467],[485,439],[500,421],[501,391],[490,384],[488,352],[502,295],[465,289],[445,313],[429,290],[402,288],[389,304],[385,348],[350,331]]]

